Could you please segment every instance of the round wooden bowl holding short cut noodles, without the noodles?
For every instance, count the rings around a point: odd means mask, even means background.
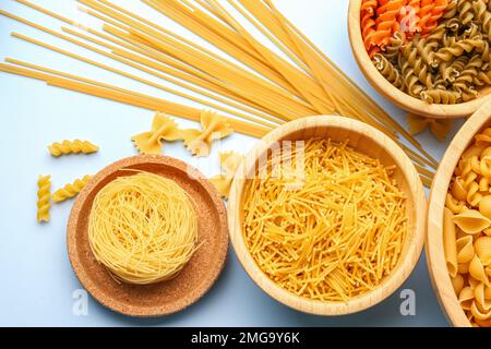
[[[251,256],[242,233],[242,195],[247,178],[255,173],[256,159],[264,156],[272,144],[285,140],[308,140],[312,136],[345,142],[384,165],[396,165],[394,178],[407,195],[408,236],[398,264],[392,274],[375,289],[351,299],[349,302],[323,302],[298,297],[271,280]],[[268,133],[242,161],[232,182],[228,202],[230,238],[237,256],[249,276],[267,294],[277,301],[312,314],[342,315],[370,308],[393,293],[411,273],[421,254],[424,241],[427,201],[420,177],[410,159],[391,139],[374,128],[343,117],[309,117],[288,122]]]

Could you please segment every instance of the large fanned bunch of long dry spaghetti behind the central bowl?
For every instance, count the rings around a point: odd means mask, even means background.
[[[62,31],[68,34],[64,35],[4,11],[0,11],[0,14],[167,83],[184,87],[207,99],[184,94],[166,85],[15,34],[17,38],[221,110],[232,116],[230,119],[233,122],[230,124],[236,131],[261,136],[264,131],[274,129],[285,121],[311,115],[342,115],[361,120],[387,134],[406,151],[411,160],[420,168],[429,166],[434,169],[436,167],[436,161],[428,152],[302,35],[270,0],[228,0],[227,5],[233,8],[236,12],[254,25],[289,60],[261,44],[239,23],[238,17],[232,15],[229,9],[226,9],[225,3],[215,0],[142,0],[142,2],[178,22],[225,55],[215,53],[111,1],[79,0],[85,5],[82,8],[84,12],[103,22],[103,32],[79,25],[70,19],[26,0],[16,1],[65,24],[77,26],[86,31],[87,35],[63,27]],[[93,43],[97,47],[74,39],[72,36]],[[227,56],[236,60],[228,59]],[[11,68],[2,69],[13,73],[19,72]],[[40,69],[47,70],[46,68]],[[56,82],[60,81],[56,80]],[[53,85],[51,82],[49,83]],[[100,85],[101,83],[95,82],[95,84]],[[121,96],[119,91],[112,91],[119,87],[106,92],[100,91],[99,87],[81,86],[79,83],[69,84],[65,81],[55,85],[170,113],[168,110],[161,110],[158,103],[149,103],[144,96],[136,97],[134,93],[131,96]],[[212,103],[208,99],[217,100],[220,104]],[[179,109],[185,111],[184,113],[188,112],[184,110],[184,106],[180,106]],[[240,123],[241,130],[233,123]],[[422,180],[426,184],[431,181],[426,174],[422,174]]]

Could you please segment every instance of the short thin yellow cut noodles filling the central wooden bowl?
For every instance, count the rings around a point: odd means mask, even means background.
[[[330,140],[270,156],[243,205],[255,263],[310,299],[347,301],[374,289],[397,265],[407,234],[406,198],[392,168]]]

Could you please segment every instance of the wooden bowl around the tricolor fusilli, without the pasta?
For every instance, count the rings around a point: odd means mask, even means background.
[[[349,0],[349,41],[355,59],[364,77],[383,97],[402,109],[427,118],[463,118],[470,116],[479,109],[479,107],[486,101],[486,97],[491,91],[491,87],[481,89],[479,92],[479,97],[470,101],[456,105],[430,105],[421,99],[411,97],[386,81],[373,65],[367,50],[364,49],[360,27],[361,1],[362,0]]]

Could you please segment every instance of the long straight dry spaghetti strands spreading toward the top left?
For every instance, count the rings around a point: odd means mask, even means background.
[[[264,117],[266,119],[267,116],[272,116],[273,118],[280,117],[290,120],[292,118],[312,115],[314,111],[325,113],[326,110],[330,112],[334,110],[370,123],[392,137],[394,137],[393,130],[396,130],[423,154],[421,156],[397,141],[408,152],[408,155],[414,161],[419,165],[435,166],[435,161],[399,124],[392,120],[362,91],[349,81],[346,74],[339,71],[337,67],[284,19],[271,3],[242,3],[243,11],[241,13],[249,12],[247,17],[251,19],[254,25],[263,25],[263,33],[271,32],[266,36],[272,38],[274,44],[280,46],[298,67],[284,60],[274,51],[261,46],[216,1],[206,2],[207,5],[204,7],[211,10],[211,13],[205,13],[205,11],[200,9],[199,4],[204,3],[201,1],[187,1],[185,5],[173,1],[145,1],[155,10],[188,26],[211,44],[239,59],[243,64],[249,65],[249,68],[258,72],[258,74],[250,74],[233,61],[213,53],[131,11],[117,7],[110,1],[83,0],[81,2],[92,8],[92,10],[88,9],[86,12],[104,21],[105,31],[116,37],[115,39],[115,37],[87,28],[93,35],[104,39],[111,38],[109,39],[111,41],[110,45],[116,44],[116,48],[110,48],[110,53],[89,47],[70,37],[62,36],[53,31],[48,31],[48,33],[76,45],[82,45],[85,48],[112,59],[120,60],[120,57],[124,57],[123,63],[154,75],[159,74],[158,77],[161,79],[164,76],[160,75],[159,71],[164,65],[158,65],[159,68],[157,69],[155,62],[163,60],[164,63],[165,60],[165,64],[169,64],[166,74],[184,79],[188,83],[197,84],[200,87],[205,87],[206,85],[207,87],[205,88],[215,92],[217,97],[232,98],[238,103],[235,104],[235,107],[239,107],[246,111],[246,109],[240,107],[242,104],[247,106],[247,112],[254,113],[255,116],[261,113],[261,118]],[[76,24],[51,11],[33,5],[28,1],[22,1],[22,3],[65,23]],[[190,10],[191,8],[192,11]],[[2,12],[2,14],[14,17],[5,12]],[[272,25],[273,22],[271,21],[277,21],[275,17],[282,19],[278,21],[279,26]],[[46,28],[32,22],[19,17],[14,19],[46,32]],[[227,24],[224,25],[223,21],[226,21]],[[288,24],[286,25],[286,23]],[[70,29],[64,31],[96,44],[101,43],[101,40],[91,39],[88,36],[75,34],[75,32]],[[26,37],[23,38],[26,39]],[[34,40],[31,41],[34,43]],[[129,51],[121,50],[118,46],[124,47]],[[57,50],[52,46],[45,45],[45,47]],[[109,48],[107,44],[103,45],[103,47]],[[61,52],[61,50],[57,51]],[[139,55],[133,55],[131,51]],[[168,52],[171,52],[171,55],[168,55]],[[63,53],[69,52],[64,51]],[[120,53],[121,56],[119,56]],[[88,62],[89,60],[85,59],[84,61]],[[95,62],[91,61],[89,63],[93,64]],[[101,64],[97,65],[101,67]],[[153,71],[143,69],[143,65],[152,65]],[[104,69],[107,69],[106,67]],[[207,74],[200,73],[196,68],[204,69]],[[185,71],[187,69],[189,70]],[[118,71],[117,73],[121,74],[123,72]],[[130,76],[130,74],[125,74],[125,76]],[[131,79],[134,77],[136,76],[131,75]],[[167,77],[166,80],[170,81]],[[188,85],[185,88],[190,87],[191,85]],[[166,86],[159,84],[158,88],[169,91]],[[91,92],[94,92],[94,89],[91,89]],[[101,92],[97,93],[99,96],[103,95]],[[172,93],[176,93],[176,91]],[[203,94],[205,91],[202,89],[199,93]],[[108,94],[105,97],[116,98],[112,94]],[[360,108],[360,105],[362,108]],[[219,106],[215,107],[218,108]],[[249,118],[243,112],[240,112],[240,115],[236,112],[235,115],[252,120],[252,118]],[[256,118],[255,121],[259,123],[264,122],[261,118]],[[273,119],[268,120],[272,121]],[[423,181],[428,183],[430,179],[423,176]]]

